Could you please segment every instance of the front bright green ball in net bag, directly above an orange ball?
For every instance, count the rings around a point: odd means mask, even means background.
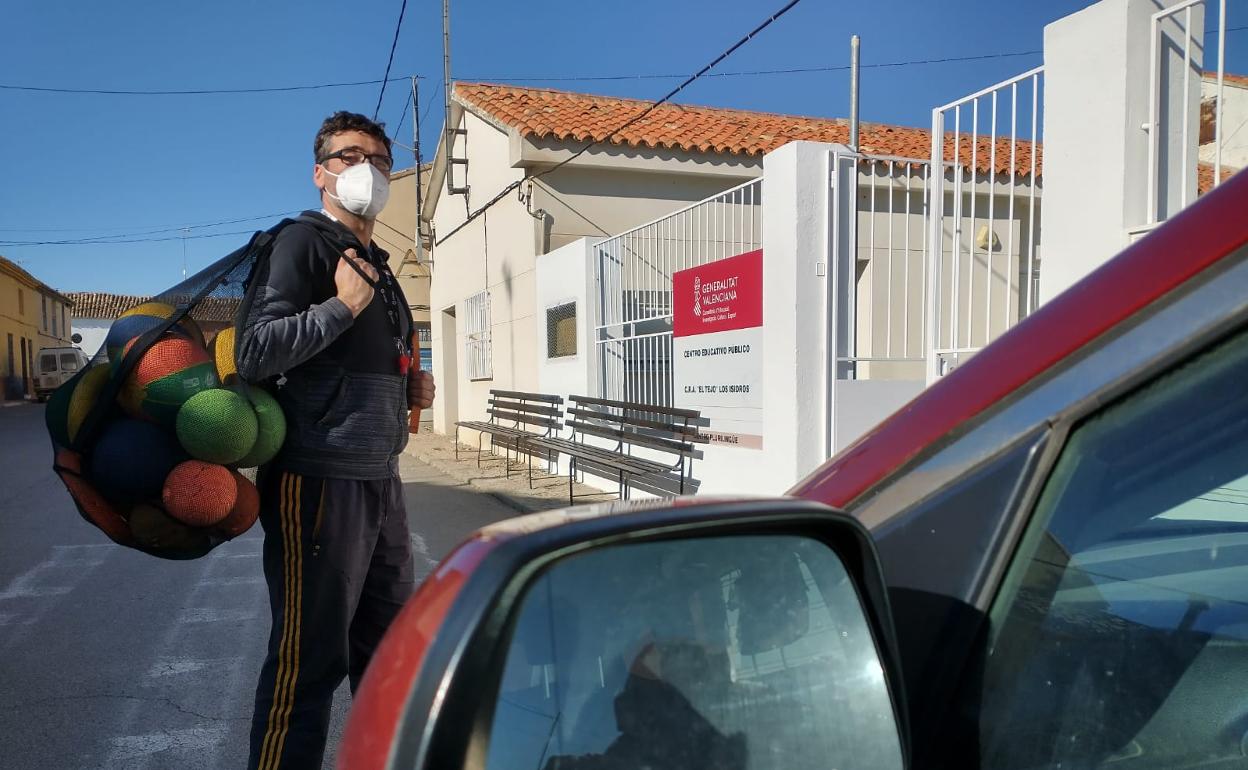
[[[177,411],[177,439],[191,457],[228,465],[256,446],[258,424],[247,399],[232,391],[208,388]]]

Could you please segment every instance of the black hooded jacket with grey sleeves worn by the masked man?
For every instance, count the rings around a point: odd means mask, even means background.
[[[277,233],[252,277],[238,374],[277,382],[287,422],[277,467],[327,478],[388,478],[407,444],[407,377],[396,338],[411,339],[412,318],[397,281],[391,283],[397,322],[381,291],[351,317],[334,283],[348,247],[378,275],[389,275],[384,251],[376,243],[363,248],[347,227],[321,212],[305,212]]]

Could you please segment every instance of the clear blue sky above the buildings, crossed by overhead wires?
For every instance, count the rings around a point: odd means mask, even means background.
[[[690,74],[780,0],[630,0],[567,4],[452,0],[453,75],[459,79]],[[1043,26],[1087,0],[802,0],[719,71],[844,65],[862,36],[862,120],[926,125],[931,107],[1041,62],[1038,54],[871,69],[872,64],[1038,51]],[[399,0],[353,4],[21,2],[5,10],[0,85],[101,90],[197,90],[378,80]],[[622,12],[625,11],[625,12]],[[1248,24],[1236,15],[1231,26]],[[442,4],[408,0],[392,76],[422,75],[426,157],[442,124]],[[1242,41],[1242,44],[1241,44]],[[1248,32],[1231,36],[1228,69]],[[1241,51],[1244,54],[1248,51]],[[542,81],[656,99],[676,80]],[[708,77],[676,101],[816,116],[847,114],[844,71]],[[311,145],[339,109],[371,115],[379,86],[270,94],[125,96],[0,89],[7,178],[0,185],[0,242],[97,236],[173,238],[109,245],[0,245],[64,291],[149,293],[246,240],[241,230],[317,205]],[[409,99],[386,90],[393,127]],[[397,137],[412,140],[407,115]],[[397,165],[412,165],[397,149]],[[210,222],[265,217],[216,227]],[[165,232],[154,232],[162,231]],[[212,236],[212,237],[206,237]]]

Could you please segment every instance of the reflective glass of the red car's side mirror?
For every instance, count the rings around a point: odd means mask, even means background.
[[[492,770],[901,768],[854,583],[797,537],[557,563],[523,599],[492,708]]]

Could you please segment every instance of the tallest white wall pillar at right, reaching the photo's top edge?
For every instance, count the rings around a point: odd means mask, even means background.
[[[1101,0],[1045,27],[1045,212],[1041,230],[1040,300],[1047,302],[1129,241],[1147,221],[1151,16],[1172,0]],[[1193,27],[1203,27],[1198,9]],[[1162,31],[1167,45],[1182,46],[1173,25]],[[1173,37],[1178,35],[1178,40]],[[1182,94],[1182,57],[1166,67],[1169,92]],[[1196,181],[1201,57],[1188,105],[1191,190]],[[1183,105],[1171,97],[1162,131],[1158,207],[1173,213],[1183,149]],[[1194,193],[1192,195],[1194,198]]]

